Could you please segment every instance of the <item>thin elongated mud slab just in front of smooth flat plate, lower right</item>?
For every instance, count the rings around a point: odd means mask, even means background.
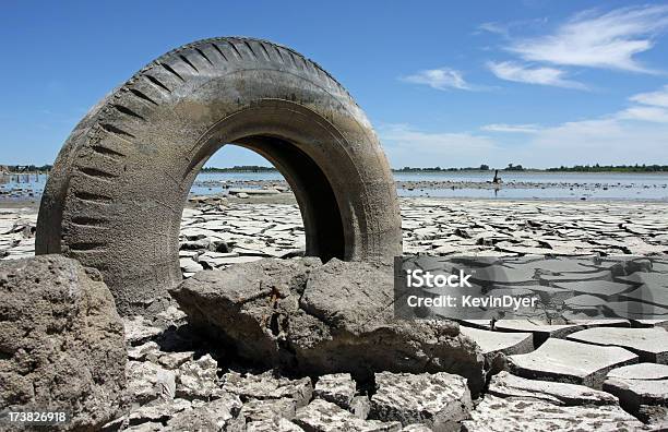
[[[617,405],[617,398],[606,392],[584,385],[527,380],[501,372],[494,375],[488,394],[503,398],[545,400],[554,405]]]

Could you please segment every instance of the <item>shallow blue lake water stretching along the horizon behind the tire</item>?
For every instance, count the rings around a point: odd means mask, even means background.
[[[500,171],[501,189],[480,189],[466,183],[486,183],[493,171],[395,172],[401,182],[453,182],[442,189],[415,187],[398,189],[401,196],[441,196],[473,199],[539,199],[539,200],[648,200],[668,201],[668,173],[625,172],[521,172]],[[47,176],[21,175],[4,177],[0,191],[17,191],[14,199],[38,197],[44,191]],[[225,193],[224,183],[236,181],[279,181],[281,173],[270,172],[202,172],[191,189],[193,194]],[[456,184],[464,183],[464,184]],[[524,185],[523,183],[528,183]],[[244,185],[244,188],[253,185]],[[489,187],[487,187],[489,188]],[[542,189],[545,188],[545,189]],[[7,199],[8,195],[0,195]],[[11,199],[11,197],[10,197]]]

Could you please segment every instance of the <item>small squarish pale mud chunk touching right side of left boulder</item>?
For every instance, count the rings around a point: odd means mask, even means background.
[[[171,400],[176,395],[176,375],[150,361],[129,361],[128,395],[138,405]]]

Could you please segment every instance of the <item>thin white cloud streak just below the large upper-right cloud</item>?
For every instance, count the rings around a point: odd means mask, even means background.
[[[565,72],[556,68],[530,68],[513,61],[490,61],[487,63],[487,67],[497,77],[505,81],[586,89],[586,86],[582,83],[565,80]]]

